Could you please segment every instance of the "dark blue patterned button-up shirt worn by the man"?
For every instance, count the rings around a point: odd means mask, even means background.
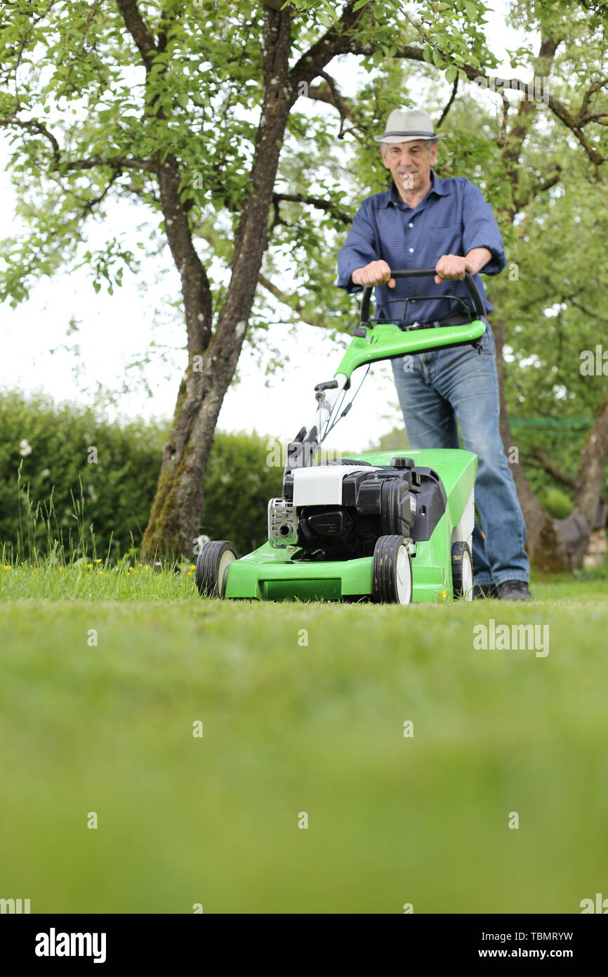
[[[434,170],[430,173],[431,189],[414,208],[401,200],[393,182],[389,190],[363,200],[338,256],[337,284],[348,294],[361,291],[361,285],[354,285],[350,280],[354,270],[380,259],[391,269],[434,268],[444,254],[465,257],[474,247],[486,247],[492,252],[492,258],[482,269],[483,274],[498,275],[503,271],[506,265],[503,237],[483,193],[465,177],[441,180]],[[492,312],[481,278],[473,277],[486,311]],[[462,305],[451,299],[417,298],[442,294],[462,296],[466,307],[472,309],[464,281],[443,281],[436,285],[431,277],[397,278],[394,288],[377,287],[377,310],[389,300],[401,301],[385,306],[384,312],[377,315],[410,323],[446,319],[464,312]],[[403,317],[403,299],[408,296],[413,301]]]

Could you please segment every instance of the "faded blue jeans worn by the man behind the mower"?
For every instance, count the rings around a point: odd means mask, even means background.
[[[478,459],[473,530],[475,583],[528,580],[524,522],[499,430],[496,346],[488,323],[481,353],[472,346],[391,360],[410,446],[460,447]]]

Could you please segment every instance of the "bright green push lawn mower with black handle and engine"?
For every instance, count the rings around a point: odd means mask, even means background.
[[[434,275],[434,269],[391,274]],[[240,559],[227,540],[205,543],[196,562],[201,594],[385,604],[472,599],[475,454],[433,449],[319,459],[323,441],[350,409],[354,395],[345,400],[357,367],[463,344],[480,351],[485,311],[468,273],[466,285],[472,320],[461,298],[442,295],[457,299],[468,320],[439,326],[404,324],[408,299],[401,319],[386,318],[384,310],[402,299],[370,318],[372,289],[363,290],[359,326],[334,379],[314,388],[315,422],[287,447],[283,494],[268,502],[267,542]]]

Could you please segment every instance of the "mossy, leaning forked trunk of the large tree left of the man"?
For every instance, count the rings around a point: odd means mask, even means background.
[[[213,335],[201,308],[204,282],[196,280],[196,263],[188,264],[187,249],[173,250],[182,274],[182,294],[188,325],[188,365],[176,405],[173,429],[163,452],[156,495],[142,541],[142,558],[156,555],[190,559],[204,515],[203,480],[225,392],[245,338],[258,274],[268,237],[268,214],[289,111],[293,85],[289,77],[290,16],[269,10],[264,15],[264,99],[251,174],[251,192],[235,235],[232,274],[222,312]],[[176,187],[166,173],[167,208],[178,206]],[[179,185],[179,180],[178,180]],[[163,210],[165,198],[163,197]],[[174,225],[170,225],[174,228]],[[184,263],[185,262],[185,263]],[[200,263],[199,263],[200,264]],[[194,271],[194,279],[190,276]]]

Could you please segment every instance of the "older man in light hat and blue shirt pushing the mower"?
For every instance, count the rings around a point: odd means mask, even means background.
[[[432,167],[441,137],[423,109],[395,109],[385,134],[375,138],[392,183],[357,211],[338,258],[338,285],[348,293],[377,286],[377,309],[393,302],[380,314],[385,319],[397,319],[408,298],[404,324],[456,325],[468,317],[458,301],[442,296],[457,295],[470,309],[464,281],[469,272],[491,313],[478,273],[498,275],[506,261],[483,194],[463,177],[437,177]],[[390,277],[391,269],[407,268],[434,268],[435,285],[430,277]],[[480,354],[457,346],[400,357],[391,365],[410,445],[459,447],[458,421],[463,445],[477,454],[475,503],[483,532],[475,525],[474,596],[531,600],[525,523],[499,431],[496,347],[485,322]]]

